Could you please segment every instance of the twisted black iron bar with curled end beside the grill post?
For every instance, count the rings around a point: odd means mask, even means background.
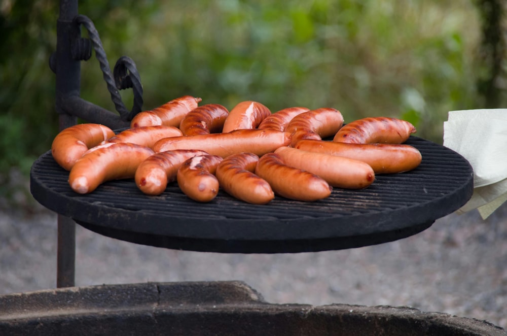
[[[115,81],[115,78],[111,74],[109,62],[107,61],[104,47],[102,46],[102,42],[100,41],[100,37],[97,29],[95,28],[95,25],[88,17],[84,15],[76,16],[74,22],[83,25],[86,28],[86,30],[88,30],[88,37],[92,42],[93,49],[95,50],[95,56],[99,61],[100,70],[102,70],[104,81],[107,84],[107,90],[111,93],[111,100],[115,105],[116,111],[118,111],[122,120],[125,121],[132,120],[132,118],[141,111],[143,103],[142,86],[140,84],[139,74],[135,69],[135,63],[126,56],[118,60],[118,62],[120,62],[120,65],[118,65],[117,63],[117,66],[119,66],[120,69],[121,66],[124,66],[126,69],[128,69],[130,74],[127,74],[126,71],[124,71],[125,74],[123,77],[129,77],[131,83],[133,84],[132,87],[134,92],[134,104],[132,110],[128,111],[128,109],[125,107],[125,104],[123,104],[122,97],[120,95],[120,92],[118,91],[118,89],[124,88],[124,86],[122,85],[122,83],[117,83]],[[121,81],[124,81],[124,79],[121,79]]]

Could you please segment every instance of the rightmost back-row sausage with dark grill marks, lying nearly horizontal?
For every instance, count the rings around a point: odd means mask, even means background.
[[[370,117],[343,126],[333,141],[349,144],[403,144],[416,128],[410,122],[388,117]]]

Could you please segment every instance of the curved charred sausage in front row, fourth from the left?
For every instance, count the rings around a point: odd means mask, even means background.
[[[226,157],[216,167],[216,178],[228,194],[251,204],[267,204],[275,194],[269,183],[255,175],[259,156],[237,153]]]

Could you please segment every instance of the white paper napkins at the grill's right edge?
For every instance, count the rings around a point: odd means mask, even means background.
[[[474,169],[474,194],[457,213],[477,209],[486,219],[507,200],[507,109],[449,112],[444,146]]]

